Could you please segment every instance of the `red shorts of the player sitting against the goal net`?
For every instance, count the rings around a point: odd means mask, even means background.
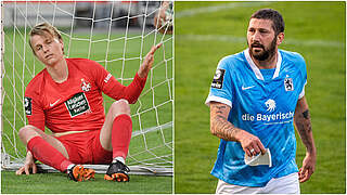
[[[112,152],[104,150],[100,143],[100,131],[54,136],[65,146],[68,160],[73,164],[111,164]]]

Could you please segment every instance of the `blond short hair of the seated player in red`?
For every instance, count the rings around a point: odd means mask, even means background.
[[[36,35],[39,35],[39,36],[47,36],[48,35],[51,35],[53,38],[56,38],[57,40],[63,40],[62,38],[62,35],[57,31],[57,29],[50,25],[49,23],[40,23],[36,26],[34,26],[34,28],[30,30],[29,32],[29,44],[30,44],[30,48],[35,54],[35,50],[31,46],[31,37],[33,36],[36,36]],[[64,52],[64,49],[63,49],[63,52]]]

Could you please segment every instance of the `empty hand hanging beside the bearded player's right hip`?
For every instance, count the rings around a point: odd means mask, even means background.
[[[299,169],[299,182],[306,182],[311,178],[316,168],[316,154],[306,153],[303,161],[303,167]]]

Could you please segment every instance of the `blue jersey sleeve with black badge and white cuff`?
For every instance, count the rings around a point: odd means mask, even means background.
[[[232,91],[231,69],[227,60],[223,58],[218,63],[205,104],[209,106],[210,102],[219,102],[232,107]]]

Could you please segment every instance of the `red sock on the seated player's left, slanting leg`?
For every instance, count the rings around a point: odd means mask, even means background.
[[[62,172],[65,172],[67,167],[73,164],[41,136],[34,136],[29,140],[27,147],[36,159]]]

